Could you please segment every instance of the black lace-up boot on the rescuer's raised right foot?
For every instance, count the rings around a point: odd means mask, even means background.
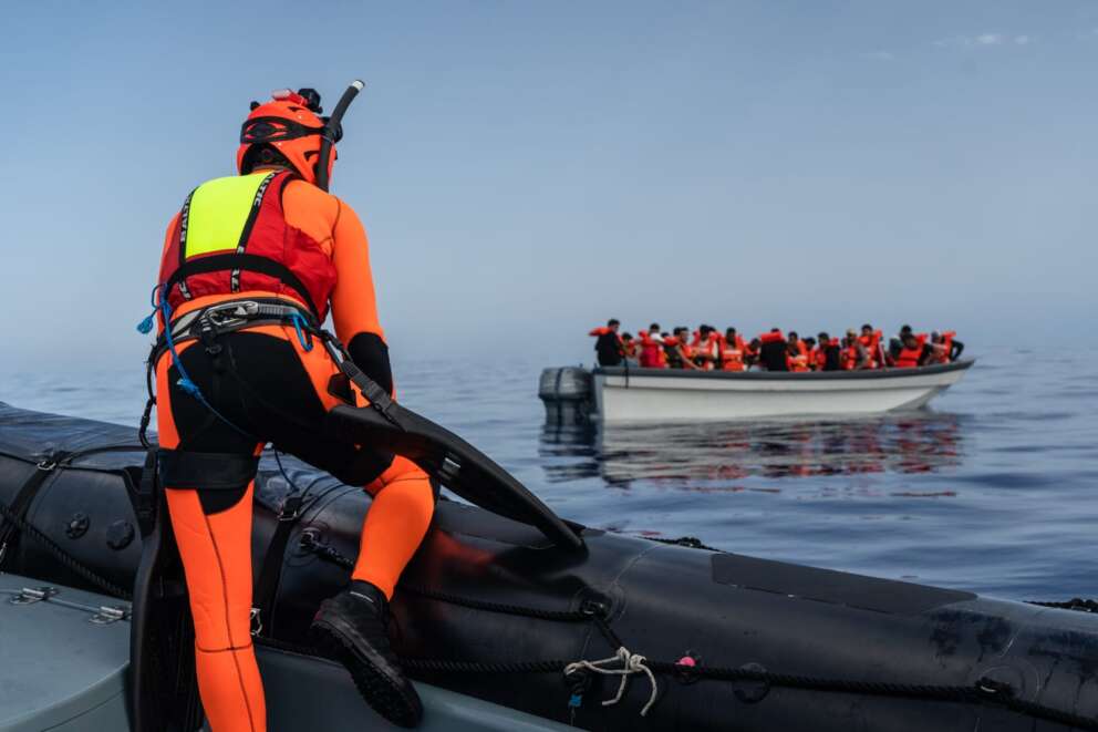
[[[389,602],[361,580],[320,604],[310,632],[322,651],[351,672],[359,693],[375,712],[401,726],[415,726],[423,704],[389,643]]]

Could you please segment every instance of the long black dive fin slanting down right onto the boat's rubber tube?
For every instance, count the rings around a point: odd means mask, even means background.
[[[568,524],[465,440],[396,402],[386,400],[383,411],[340,405],[329,413],[329,420],[341,440],[407,457],[466,501],[536,526],[558,546],[583,548],[583,539]]]

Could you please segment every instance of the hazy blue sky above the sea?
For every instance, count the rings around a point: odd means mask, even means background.
[[[263,14],[260,14],[260,11]],[[0,370],[139,368],[164,227],[317,86],[405,358],[591,326],[1094,336],[1098,3],[35,2],[6,10]],[[445,349],[445,350],[441,350]]]

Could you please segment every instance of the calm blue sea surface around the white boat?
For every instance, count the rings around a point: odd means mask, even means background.
[[[590,526],[999,597],[1098,597],[1098,351],[973,355],[929,411],[605,430],[545,425],[547,363],[395,369],[405,404]],[[144,380],[141,364],[9,374],[0,401],[135,424]]]

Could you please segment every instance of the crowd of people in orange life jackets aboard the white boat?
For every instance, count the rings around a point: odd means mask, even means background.
[[[690,369],[701,371],[860,371],[866,369],[913,369],[955,361],[964,343],[952,330],[916,333],[911,326],[884,342],[883,333],[871,324],[861,332],[850,329],[842,338],[821,331],[800,338],[796,331],[783,333],[773,328],[744,339],[735,328],[722,334],[703,324],[693,332],[679,327],[665,331],[652,323],[636,337],[620,332],[611,319],[591,331],[599,365],[632,365],[643,369]]]

